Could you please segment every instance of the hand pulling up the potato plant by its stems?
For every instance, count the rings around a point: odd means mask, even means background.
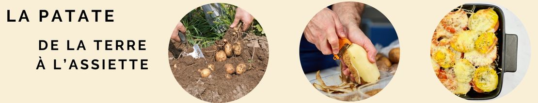
[[[233,23],[230,25],[230,28],[235,28],[239,21],[243,21],[243,31],[246,31],[249,29],[250,24],[254,20],[254,17],[250,15],[249,12],[246,12],[245,10],[241,9],[240,7],[237,7],[236,9],[236,15],[233,19]]]

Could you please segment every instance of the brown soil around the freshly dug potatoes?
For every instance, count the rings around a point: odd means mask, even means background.
[[[229,102],[239,99],[252,91],[265,74],[269,59],[268,44],[265,36],[256,36],[252,33],[236,33],[232,35],[228,30],[223,38],[229,42],[242,42],[240,56],[232,56],[225,61],[217,62],[215,53],[222,50],[221,41],[209,47],[201,48],[204,58],[194,59],[190,56],[181,56],[181,52],[193,52],[192,45],[180,44],[171,41],[169,44],[169,63],[176,81],[192,96],[209,102]],[[252,58],[252,59],[251,59]],[[206,64],[207,61],[207,64]],[[209,77],[203,78],[198,69],[207,68],[208,64],[215,65]],[[242,75],[232,74],[231,79],[226,78],[224,64],[245,64],[246,71]]]

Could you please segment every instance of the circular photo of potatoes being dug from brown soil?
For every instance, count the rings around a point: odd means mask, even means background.
[[[172,31],[168,60],[192,96],[229,102],[256,88],[269,59],[267,37],[249,12],[212,3],[190,11]]]

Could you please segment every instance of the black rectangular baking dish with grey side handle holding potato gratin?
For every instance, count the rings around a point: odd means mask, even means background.
[[[518,57],[518,36],[505,33],[505,17],[502,10],[500,10],[498,6],[491,4],[464,4],[461,8],[465,10],[474,10],[473,12],[493,8],[493,11],[499,15],[499,28],[495,31],[495,35],[498,38],[497,60],[495,60],[495,62],[497,62],[497,67],[495,70],[497,70],[499,77],[497,89],[491,92],[478,93],[471,88],[467,94],[459,94],[459,97],[468,100],[493,99],[499,96],[501,92],[504,73],[516,71]]]

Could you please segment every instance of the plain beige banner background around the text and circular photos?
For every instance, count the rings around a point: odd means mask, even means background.
[[[175,81],[167,61],[168,38],[176,23],[200,2],[44,2],[4,1],[0,4],[0,102],[204,102],[190,96]],[[221,1],[219,1],[221,2]],[[322,7],[339,1],[224,1],[243,7],[264,27],[270,61],[260,84],[233,102],[338,102],[312,88],[303,75],[298,47],[306,23]],[[431,72],[429,45],[437,22],[465,1],[359,1],[384,13],[399,38],[401,64],[391,83],[376,96],[359,102],[469,102],[449,93]],[[518,15],[537,39],[535,3],[491,1]],[[31,22],[6,22],[6,10],[18,17],[25,9]],[[114,9],[115,22],[38,22],[40,9]],[[52,13],[50,13],[52,14]],[[62,13],[67,14],[67,13]],[[52,16],[52,15],[49,15]],[[67,19],[66,15],[62,15]],[[91,17],[91,16],[90,16]],[[100,17],[104,20],[103,17]],[[39,39],[59,39],[59,51],[39,51]],[[65,40],[86,41],[86,51],[66,51]],[[93,39],[146,39],[146,51],[95,51]],[[522,38],[520,38],[522,39]],[[285,42],[282,42],[285,41]],[[74,45],[74,44],[73,44]],[[532,51],[536,50],[531,42]],[[36,70],[39,56],[52,59],[149,59],[148,70]],[[532,55],[529,68],[536,68]],[[422,63],[421,63],[422,62]],[[51,67],[51,66],[48,66]],[[126,66],[130,67],[130,66]],[[534,101],[536,70],[528,69],[520,85],[492,102]]]

